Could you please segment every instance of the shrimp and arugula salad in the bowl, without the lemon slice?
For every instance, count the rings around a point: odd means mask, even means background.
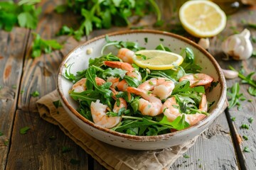
[[[90,59],[89,67],[76,74],[70,73],[70,64],[63,75],[73,81],[69,94],[87,120],[129,135],[151,136],[188,128],[208,115],[212,103],[206,91],[218,81],[201,73],[190,48],[181,50],[181,65],[151,70],[134,64],[135,52],[144,49],[137,42],[107,42],[105,47],[109,44],[117,47],[112,52],[117,55]],[[163,45],[156,50],[171,51]]]

